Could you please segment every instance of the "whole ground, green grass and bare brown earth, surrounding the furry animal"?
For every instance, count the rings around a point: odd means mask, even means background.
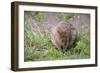
[[[90,57],[90,15],[25,12],[25,61],[84,59]],[[65,18],[69,17],[69,18]],[[70,22],[78,32],[77,45],[63,53],[56,50],[50,40],[53,27],[63,20]]]

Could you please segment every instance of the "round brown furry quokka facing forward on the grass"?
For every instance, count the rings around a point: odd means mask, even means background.
[[[52,29],[51,41],[56,48],[67,51],[73,46],[76,36],[76,29],[69,22],[62,21]]]

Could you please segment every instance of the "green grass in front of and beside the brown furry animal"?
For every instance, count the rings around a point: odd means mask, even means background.
[[[89,28],[77,35],[76,46],[62,52],[56,49],[50,40],[50,32],[39,32],[31,25],[25,24],[24,30],[24,60],[45,61],[45,60],[66,60],[86,59],[90,57]]]

